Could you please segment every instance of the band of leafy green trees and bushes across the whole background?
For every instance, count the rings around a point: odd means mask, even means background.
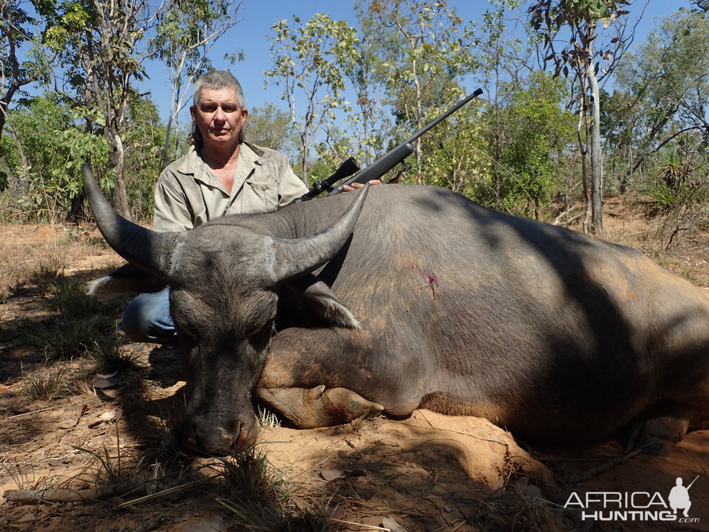
[[[459,100],[464,84],[479,79],[483,98],[417,143],[405,181],[449,187],[497,209],[539,216],[562,188],[581,193],[576,176],[589,166],[579,163],[588,163],[596,139],[589,110],[600,101],[606,188],[622,192],[642,174],[657,212],[698,205],[703,185],[690,186],[707,170],[709,146],[704,11],[674,13],[635,55],[621,57],[625,40],[612,32],[623,26],[626,0],[527,3],[538,31],[525,41],[508,22],[520,14],[520,1],[496,3],[479,24],[464,23],[452,4],[359,0],[357,29],[322,13],[308,21],[276,21],[270,35],[274,65],[265,82],[283,89],[289,109],[250,109],[247,138],[299,159],[303,177],[322,179],[350,156],[370,164]],[[104,189],[118,182],[110,169],[122,168],[128,212],[149,218],[163,157],[179,156],[181,149],[169,119],[189,95],[191,80],[209,67],[209,47],[237,21],[238,9],[238,2],[228,0],[128,3],[124,12],[111,5],[11,0],[0,6],[0,26],[11,27],[26,60],[18,65],[22,79],[47,81],[51,56],[60,54],[52,69],[61,72],[61,96],[48,89],[45,96],[16,98],[0,136],[2,199],[4,205],[19,199],[12,209],[21,208],[24,219],[63,218],[69,201],[82,194],[79,166],[86,157]],[[535,46],[542,50],[537,57]],[[133,87],[145,75],[147,54],[164,62],[172,82],[167,126]],[[0,47],[0,60],[10,72],[9,45]],[[591,69],[585,68],[589,61]],[[534,64],[576,77],[567,85],[532,72]],[[589,98],[584,84],[615,65],[613,94],[601,89]],[[579,111],[578,121],[565,108]],[[569,150],[574,140],[578,148]]]

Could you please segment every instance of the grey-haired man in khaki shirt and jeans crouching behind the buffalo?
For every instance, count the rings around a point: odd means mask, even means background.
[[[244,140],[248,111],[232,74],[203,74],[193,102],[191,146],[155,185],[155,231],[186,231],[226,214],[275,211],[308,192],[285,155]],[[136,297],[121,328],[131,340],[174,345],[169,289]]]

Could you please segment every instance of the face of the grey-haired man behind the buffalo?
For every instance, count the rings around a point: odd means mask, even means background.
[[[198,103],[189,111],[206,146],[238,144],[248,111],[240,109],[234,89],[202,89]]]

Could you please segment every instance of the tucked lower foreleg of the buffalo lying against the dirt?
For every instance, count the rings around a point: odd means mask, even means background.
[[[384,406],[364,399],[347,388],[257,388],[259,399],[277,409],[298,428],[341,425],[375,416]]]

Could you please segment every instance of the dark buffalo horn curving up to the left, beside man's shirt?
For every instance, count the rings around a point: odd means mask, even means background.
[[[96,225],[108,245],[125,260],[169,281],[169,251],[176,233],[156,233],[120,216],[108,203],[89,165],[82,166],[84,189],[94,211]]]

